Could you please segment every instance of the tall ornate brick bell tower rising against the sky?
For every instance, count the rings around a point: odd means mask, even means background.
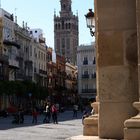
[[[73,15],[71,0],[60,0],[60,16],[54,14],[55,52],[76,63],[76,51],[79,45],[78,16]]]

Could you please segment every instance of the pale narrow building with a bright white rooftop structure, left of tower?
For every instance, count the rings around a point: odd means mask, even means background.
[[[43,31],[39,28],[30,29],[30,36],[34,42],[30,53],[33,54],[34,82],[40,86],[47,87],[47,46],[43,37]]]

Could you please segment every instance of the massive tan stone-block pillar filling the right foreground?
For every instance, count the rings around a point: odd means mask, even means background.
[[[138,100],[135,0],[95,0],[99,137],[123,138]]]

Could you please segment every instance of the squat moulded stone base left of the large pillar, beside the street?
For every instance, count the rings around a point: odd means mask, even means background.
[[[98,136],[98,115],[92,115],[84,119],[84,136]]]

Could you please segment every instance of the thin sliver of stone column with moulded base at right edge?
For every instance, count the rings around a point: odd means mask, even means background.
[[[138,86],[140,99],[140,0],[136,0],[137,17],[137,46],[138,46]],[[124,122],[124,139],[140,140],[140,100],[134,102],[133,106],[139,111],[138,115]]]

